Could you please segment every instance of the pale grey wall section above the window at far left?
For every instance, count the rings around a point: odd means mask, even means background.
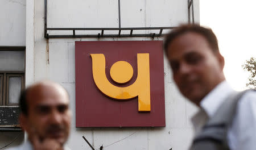
[[[26,39],[26,0],[1,0],[0,23],[1,46],[24,46]]]

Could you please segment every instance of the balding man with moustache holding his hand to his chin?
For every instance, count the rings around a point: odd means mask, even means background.
[[[71,124],[69,95],[61,85],[42,81],[32,85],[20,96],[20,126],[28,140],[11,149],[67,150]]]

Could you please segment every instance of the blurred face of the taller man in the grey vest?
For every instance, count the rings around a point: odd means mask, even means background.
[[[223,57],[195,32],[177,36],[168,47],[168,59],[180,92],[196,105],[224,80]]]

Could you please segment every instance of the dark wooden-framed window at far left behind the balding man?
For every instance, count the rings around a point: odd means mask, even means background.
[[[0,127],[19,127],[19,96],[24,90],[25,48],[0,47]]]

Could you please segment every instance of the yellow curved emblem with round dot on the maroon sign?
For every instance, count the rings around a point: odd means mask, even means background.
[[[108,97],[124,100],[138,96],[138,110],[150,111],[150,65],[149,54],[137,54],[138,75],[136,81],[126,87],[111,84],[106,77],[104,54],[90,54],[92,57],[93,80],[98,89]],[[133,77],[133,67],[126,61],[117,61],[110,68],[110,77],[119,84],[125,84]]]

